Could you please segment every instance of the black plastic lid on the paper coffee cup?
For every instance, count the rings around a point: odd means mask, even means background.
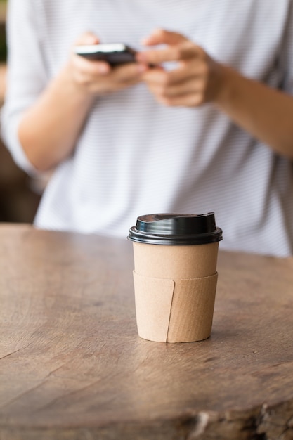
[[[207,214],[148,214],[129,229],[129,240],[150,245],[204,245],[223,239],[214,212]]]

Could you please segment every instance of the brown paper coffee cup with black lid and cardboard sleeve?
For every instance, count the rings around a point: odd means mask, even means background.
[[[138,335],[156,342],[207,339],[222,240],[214,213],[140,216],[128,238],[134,242]]]

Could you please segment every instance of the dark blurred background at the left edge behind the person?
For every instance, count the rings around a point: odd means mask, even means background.
[[[0,106],[6,87],[6,7],[7,1],[0,0]],[[43,188],[43,182],[34,181],[14,164],[0,138],[0,221],[32,223]]]

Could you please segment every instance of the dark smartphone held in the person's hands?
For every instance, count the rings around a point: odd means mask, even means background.
[[[103,60],[110,65],[136,62],[136,51],[121,43],[75,46],[74,52],[89,60]]]

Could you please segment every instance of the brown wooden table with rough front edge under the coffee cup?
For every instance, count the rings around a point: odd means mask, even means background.
[[[293,259],[220,252],[210,339],[136,332],[128,240],[0,226],[1,440],[293,439]]]

